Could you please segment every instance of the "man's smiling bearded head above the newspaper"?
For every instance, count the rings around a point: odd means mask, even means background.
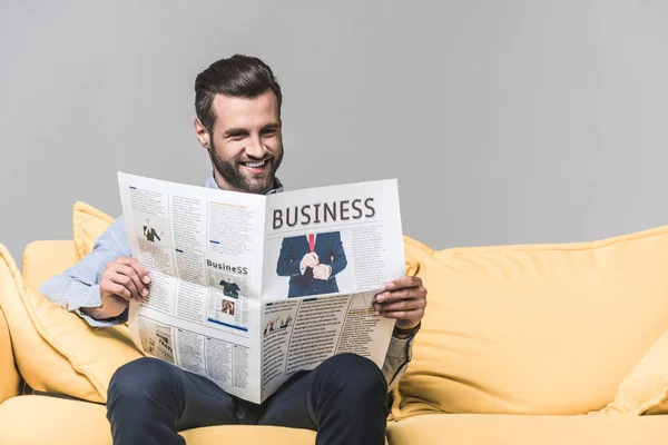
[[[219,188],[266,194],[283,160],[283,98],[268,67],[243,68],[219,62],[197,77],[195,134],[209,152]],[[226,77],[235,81],[222,85]],[[261,81],[248,82],[252,77]]]

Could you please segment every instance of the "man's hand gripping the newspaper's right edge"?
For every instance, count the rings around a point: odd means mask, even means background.
[[[396,327],[418,326],[426,307],[426,289],[419,277],[403,277],[390,281],[385,291],[376,294],[373,308],[383,317],[396,318]]]

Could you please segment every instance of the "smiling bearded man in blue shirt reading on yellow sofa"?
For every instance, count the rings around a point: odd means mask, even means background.
[[[282,93],[257,58],[219,60],[195,81],[195,134],[213,175],[206,186],[252,194],[282,190]],[[128,301],[148,295],[150,277],[130,248],[122,218],[92,251],[40,290],[92,326],[127,319]],[[387,390],[405,372],[426,305],[419,278],[389,283],[376,296],[381,315],[396,319],[383,369],[354,354],[335,355],[301,372],[262,405],[225,393],[212,380],[156,358],[121,366],[108,389],[107,418],[116,444],[185,444],[178,431],[210,425],[281,425],[317,431],[318,444],[384,443]],[[232,438],[230,438],[232,441]]]

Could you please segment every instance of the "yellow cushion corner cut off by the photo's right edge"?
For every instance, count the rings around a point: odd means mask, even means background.
[[[615,400],[591,414],[668,414],[668,330],[619,385]]]

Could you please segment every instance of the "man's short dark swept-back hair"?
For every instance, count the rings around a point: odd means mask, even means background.
[[[281,86],[268,65],[256,57],[243,55],[220,59],[195,79],[195,112],[210,134],[216,122],[213,109],[216,95],[255,98],[266,90],[272,90],[276,96],[281,117]]]

